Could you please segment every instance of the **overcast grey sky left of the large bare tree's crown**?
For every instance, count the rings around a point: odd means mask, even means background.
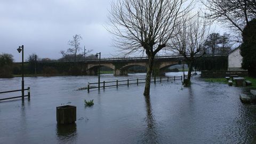
[[[0,53],[11,53],[21,61],[17,48],[25,45],[25,59],[58,59],[75,34],[81,46],[102,57],[116,53],[105,29],[112,0],[0,0]]]

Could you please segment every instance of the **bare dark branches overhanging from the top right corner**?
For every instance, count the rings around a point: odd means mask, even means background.
[[[201,0],[206,7],[206,18],[225,23],[225,26],[243,31],[256,18],[255,0]],[[241,34],[241,33],[240,33]]]

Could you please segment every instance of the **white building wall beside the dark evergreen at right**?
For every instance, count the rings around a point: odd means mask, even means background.
[[[237,47],[228,54],[228,71],[243,71],[243,57],[240,54],[240,47]]]

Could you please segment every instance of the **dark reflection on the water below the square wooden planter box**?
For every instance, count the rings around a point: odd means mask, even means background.
[[[77,138],[76,123],[73,124],[57,124],[57,137],[59,143],[75,143]]]

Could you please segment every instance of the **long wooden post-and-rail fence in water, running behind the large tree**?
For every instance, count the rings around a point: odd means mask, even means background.
[[[154,82],[154,83],[160,82],[160,83],[162,83],[163,81],[167,81],[167,82],[176,81],[176,80],[181,80],[182,81],[182,76],[153,77],[151,79],[154,80],[154,81],[151,81],[151,82]],[[124,86],[124,85],[129,86],[129,85],[132,85],[132,84],[139,85],[140,83],[146,83],[146,78],[126,79],[126,80],[121,80],[121,81],[116,80],[116,81],[109,81],[109,82],[103,81],[103,82],[100,82],[100,86],[98,86],[99,83],[90,83],[89,82],[88,85],[87,85],[87,91],[90,92],[90,89],[100,89],[100,88],[105,89],[106,87],[118,87],[118,86]],[[97,85],[97,86],[94,86],[94,85]]]

